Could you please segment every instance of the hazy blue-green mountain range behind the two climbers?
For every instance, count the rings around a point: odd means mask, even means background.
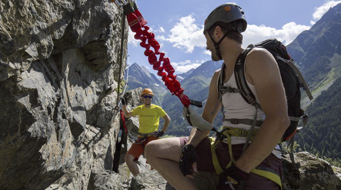
[[[330,8],[309,30],[287,45],[288,52],[306,79],[314,100],[302,91],[301,104],[310,115],[308,126],[296,135],[302,149],[341,159],[341,3]],[[212,74],[222,61],[206,61],[196,69],[178,74],[177,79],[191,99],[206,102]],[[134,70],[134,71],[131,71]],[[132,72],[132,73],[130,73]],[[130,76],[131,75],[131,76]],[[172,118],[167,134],[188,135],[178,97],[164,88],[162,81],[146,68],[133,64],[129,69],[129,88],[148,86],[159,93],[159,103]],[[321,94],[321,95],[320,95]],[[320,95],[320,96],[319,96]],[[317,97],[318,96],[318,97]],[[203,108],[196,108],[199,113]],[[214,121],[220,126],[221,113]]]

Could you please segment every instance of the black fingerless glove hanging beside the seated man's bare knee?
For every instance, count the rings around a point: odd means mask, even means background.
[[[179,166],[184,176],[192,174],[192,164],[197,162],[197,153],[193,144],[186,144],[181,150]]]

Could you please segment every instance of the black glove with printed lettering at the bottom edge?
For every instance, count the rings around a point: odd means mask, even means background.
[[[242,171],[236,165],[232,164],[231,167],[227,168],[219,174],[219,183],[217,190],[229,189],[238,190],[243,189],[248,173]]]

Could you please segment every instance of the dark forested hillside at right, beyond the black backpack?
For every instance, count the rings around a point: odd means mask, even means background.
[[[321,156],[341,158],[341,77],[307,108],[308,127],[296,140],[301,148]]]

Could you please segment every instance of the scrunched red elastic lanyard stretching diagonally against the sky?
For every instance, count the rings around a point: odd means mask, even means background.
[[[162,81],[164,81],[168,90],[172,92],[172,95],[178,96],[184,106],[190,106],[189,97],[184,94],[184,88],[181,87],[180,82],[176,79],[177,75],[174,75],[175,69],[170,64],[169,58],[164,57],[164,53],[159,51],[160,44],[155,40],[154,33],[148,31],[149,27],[145,25],[147,21],[144,20],[142,14],[135,10],[127,15],[127,20],[131,30],[136,32],[134,38],[141,40],[140,45],[145,48],[144,55],[148,56],[148,62],[153,65],[154,70],[157,70],[157,75],[161,76]],[[150,50],[150,47],[153,47],[155,52]],[[156,55],[159,55],[158,60]],[[163,70],[167,73],[163,72]]]

